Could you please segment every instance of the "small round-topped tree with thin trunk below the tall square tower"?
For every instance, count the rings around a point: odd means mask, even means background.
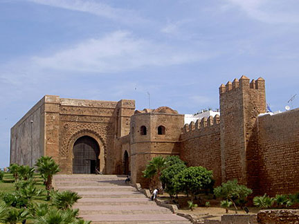
[[[221,186],[216,187],[214,189],[214,194],[217,197],[230,200],[235,207],[235,213],[237,213],[237,200],[246,200],[247,196],[252,194],[252,190],[244,185],[239,185],[237,180],[228,180],[228,182],[222,183]]]

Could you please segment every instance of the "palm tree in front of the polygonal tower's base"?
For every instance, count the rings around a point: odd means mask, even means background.
[[[160,180],[161,171],[165,169],[165,167],[167,167],[167,162],[165,161],[165,158],[163,158],[162,156],[157,156],[149,161],[149,164],[145,168],[145,171],[143,171],[143,176],[145,178],[151,178],[153,187],[161,191],[163,190],[162,183]]]

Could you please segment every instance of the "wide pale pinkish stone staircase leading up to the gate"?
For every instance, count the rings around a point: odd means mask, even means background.
[[[74,208],[93,224],[190,224],[127,185],[125,176],[60,174],[55,175],[54,183],[60,191],[71,190],[82,196]]]

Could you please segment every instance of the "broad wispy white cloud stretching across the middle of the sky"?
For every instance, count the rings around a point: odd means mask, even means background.
[[[212,57],[198,49],[175,48],[134,37],[129,32],[112,32],[87,39],[48,57],[33,57],[31,64],[57,71],[118,73],[143,66],[171,66]]]

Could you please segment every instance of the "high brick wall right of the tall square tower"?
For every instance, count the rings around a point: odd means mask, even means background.
[[[260,194],[299,192],[299,109],[257,120]]]

